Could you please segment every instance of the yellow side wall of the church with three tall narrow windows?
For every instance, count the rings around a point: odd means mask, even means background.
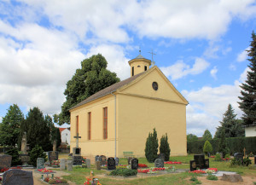
[[[103,139],[103,107],[108,107],[108,139]],[[88,140],[88,113],[91,113],[91,139]],[[79,147],[82,156],[114,156],[114,97],[106,95],[70,112],[71,142],[76,147],[76,117],[79,116]]]

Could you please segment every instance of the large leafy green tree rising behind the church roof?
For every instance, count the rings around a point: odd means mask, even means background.
[[[55,123],[70,124],[70,115],[68,109],[84,101],[90,95],[99,90],[119,82],[115,72],[107,69],[108,62],[101,55],[92,55],[90,58],[81,61],[81,68],[77,69],[73,78],[67,82],[67,88],[64,91],[66,101],[61,106],[61,113],[55,114]]]

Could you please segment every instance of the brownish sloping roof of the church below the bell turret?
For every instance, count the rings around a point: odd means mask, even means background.
[[[148,70],[148,71],[150,71],[150,70]],[[148,71],[146,71],[146,72],[148,72]],[[90,97],[86,98],[84,101],[79,102],[79,104],[77,104],[74,107],[71,107],[69,110],[72,110],[73,108],[76,108],[76,107],[80,107],[80,106],[84,105],[85,103],[88,103],[90,101],[94,101],[97,98],[100,98],[100,97],[102,97],[104,95],[111,94],[112,92],[118,90],[119,88],[125,86],[126,84],[130,84],[132,81],[134,81],[136,78],[140,77],[142,74],[144,74],[146,72],[141,72],[141,73],[139,73],[137,75],[134,75],[131,78],[127,78],[127,79],[125,79],[123,81],[120,81],[120,82],[118,82],[116,84],[110,85],[107,88],[96,92],[96,94],[90,95]]]

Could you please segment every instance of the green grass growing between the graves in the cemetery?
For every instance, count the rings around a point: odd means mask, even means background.
[[[189,170],[189,160],[193,159],[193,154],[189,154],[188,156],[184,157],[171,157],[170,160],[182,162],[183,165],[174,165],[177,169],[187,169]],[[154,163],[148,163],[147,159],[139,158],[140,164],[148,165],[149,167],[153,167]],[[127,165],[127,159],[119,159],[119,164]],[[173,165],[165,165],[165,167],[169,167]],[[243,167],[243,166],[235,166],[230,167],[229,162],[218,162],[214,161],[214,159],[210,159],[210,167],[217,168],[218,171],[236,171],[237,173],[241,174],[241,176],[256,176],[256,168],[251,166]],[[75,182],[76,184],[84,184],[85,176],[90,176],[90,171],[94,171],[94,174],[100,175],[105,174],[106,171],[96,171],[94,165],[92,165],[91,169],[75,167],[73,171],[68,171],[70,176],[63,176],[63,178]],[[113,179],[110,177],[100,177],[99,180],[102,185],[113,185],[113,184],[193,184],[192,182],[186,180],[187,177],[191,176],[188,172],[183,173],[174,173],[174,174],[167,174],[163,176],[151,176],[147,178],[134,178],[134,179]],[[188,179],[188,178],[187,178]]]

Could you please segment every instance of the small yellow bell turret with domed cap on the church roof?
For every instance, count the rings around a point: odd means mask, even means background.
[[[131,66],[131,77],[138,73],[145,72],[151,66],[151,61],[144,58],[143,55],[139,54],[135,59],[128,61]]]

